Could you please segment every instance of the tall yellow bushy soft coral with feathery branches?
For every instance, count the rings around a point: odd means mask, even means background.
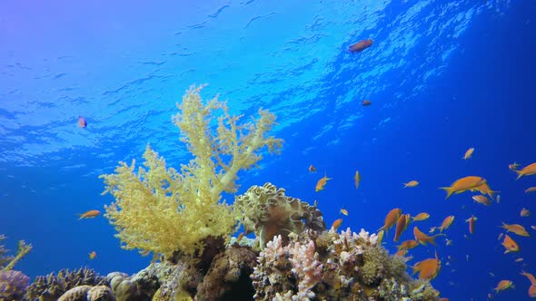
[[[123,248],[170,256],[174,251],[193,254],[203,238],[224,237],[233,232],[235,217],[221,194],[235,192],[237,172],[262,159],[260,150],[280,150],[283,141],[268,136],[275,116],[259,110],[255,122],[239,124],[242,116],[230,116],[226,103],[217,97],[203,104],[203,86],[192,86],[178,104],[174,123],[194,156],[181,172],[167,168],[165,160],[149,146],[144,167],[136,173],[135,161],[124,162],[114,174],[102,175],[104,193],[115,202],[106,206],[105,217],[118,231]],[[215,134],[211,128],[215,110],[222,110]]]

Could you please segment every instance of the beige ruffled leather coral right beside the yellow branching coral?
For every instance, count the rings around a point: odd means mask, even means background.
[[[254,232],[259,238],[260,248],[276,235],[281,235],[286,243],[289,233],[300,234],[306,228],[325,230],[322,212],[316,206],[285,196],[284,192],[272,183],[265,183],[235,197],[233,208],[246,234]]]

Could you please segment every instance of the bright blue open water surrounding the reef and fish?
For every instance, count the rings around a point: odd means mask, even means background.
[[[413,249],[410,263],[437,250],[442,271],[432,285],[451,300],[486,300],[501,279],[515,288],[495,300],[528,299],[520,272],[536,273],[536,195],[524,189],[536,177],[515,181],[508,164],[536,161],[535,22],[530,0],[4,1],[0,233],[8,248],[18,239],[33,244],[16,266],[30,277],[85,265],[102,274],[146,267],[149,258],[119,248],[105,218],[77,214],[113,201],[100,195],[98,175],[119,160],[141,160],[147,142],[169,165],[183,163],[175,102],[190,84],[209,83],[203,97],[220,93],[232,113],[274,112],[274,133],[285,140],[281,155],[239,175],[239,192],[271,181],[317,199],[328,225],[348,209],[342,227],[355,231],[380,228],[397,207],[429,212],[416,224],[422,229],[453,214],[453,245],[438,238],[437,248]],[[347,51],[365,38],[371,48]],[[363,99],[372,105],[363,108]],[[79,115],[87,128],[76,126]],[[470,147],[473,157],[462,160]],[[324,173],[333,180],[316,193]],[[484,207],[469,193],[444,200],[438,188],[468,175],[486,178],[501,203]],[[409,180],[421,184],[402,189]],[[521,208],[533,215],[521,218]],[[464,222],[471,214],[473,235]],[[530,231],[512,235],[519,254],[503,254],[501,221]],[[392,233],[385,240],[394,252]]]

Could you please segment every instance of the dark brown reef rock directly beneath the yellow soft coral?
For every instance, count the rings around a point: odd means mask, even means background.
[[[251,248],[233,246],[213,257],[205,271],[198,261],[166,260],[132,277],[114,272],[107,279],[117,301],[248,300],[254,293],[250,275],[256,258]]]

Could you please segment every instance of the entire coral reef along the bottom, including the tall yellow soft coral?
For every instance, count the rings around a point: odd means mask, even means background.
[[[143,166],[120,162],[101,176],[104,193],[115,199],[105,217],[122,248],[153,253],[151,265],[133,276],[62,270],[37,277],[26,300],[437,300],[430,283],[413,280],[376,235],[326,231],[316,204],[271,183],[227,205],[222,194],[236,192],[238,171],[253,168],[260,151],[277,152],[283,141],[268,136],[275,121],[270,112],[239,122],[217,97],[203,103],[202,88],[191,87],[174,116],[193,155],[180,171],[147,146]],[[231,243],[237,221],[255,234],[254,245],[247,238]],[[17,257],[4,256],[0,248],[0,267],[13,267]]]

